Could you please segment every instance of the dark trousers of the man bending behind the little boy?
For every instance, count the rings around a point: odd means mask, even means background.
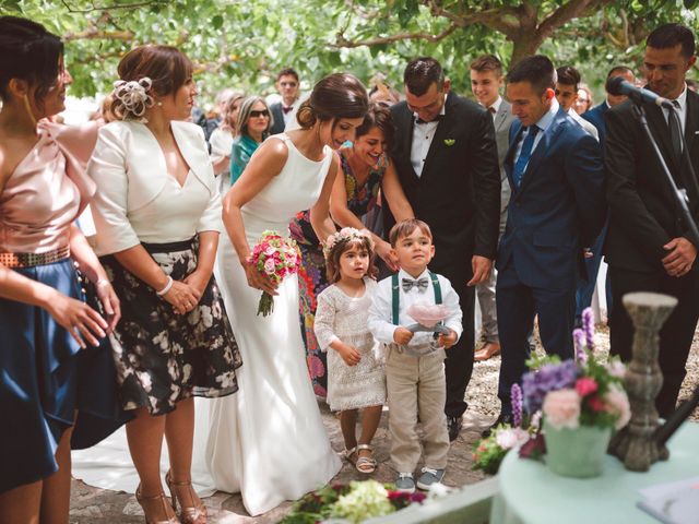
[[[447,359],[445,360],[447,374],[445,413],[448,417],[460,417],[467,407],[464,396],[473,373],[475,287],[466,286],[466,278],[450,278],[447,272],[441,274],[449,278],[459,295],[459,305],[463,313],[463,333],[459,342],[447,349]]]

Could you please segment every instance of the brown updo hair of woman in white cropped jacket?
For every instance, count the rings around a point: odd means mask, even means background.
[[[192,69],[192,62],[176,47],[149,45],[127,52],[121,58],[117,72],[119,79],[126,82],[138,82],[147,76],[153,82],[149,94],[167,96],[191,79]],[[115,98],[111,105],[111,112],[120,120],[134,117],[118,98]]]

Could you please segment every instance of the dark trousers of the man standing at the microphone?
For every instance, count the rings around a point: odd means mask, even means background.
[[[685,380],[687,357],[699,318],[699,273],[692,270],[683,277],[673,277],[664,271],[643,273],[609,266],[612,296],[615,307],[609,321],[611,354],[621,360],[631,359],[633,325],[621,298],[627,293],[653,291],[677,299],[677,306],[660,331],[659,364],[663,372],[663,386],[655,398],[661,417],[675,410],[677,395]]]

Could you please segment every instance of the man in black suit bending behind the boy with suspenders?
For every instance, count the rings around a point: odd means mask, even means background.
[[[483,107],[450,93],[437,60],[412,60],[403,80],[406,99],[391,107],[398,129],[393,163],[415,216],[431,227],[436,254],[430,269],[449,278],[463,311],[463,334],[446,360],[445,412],[454,440],[473,371],[473,286],[488,277],[497,248],[495,131]]]

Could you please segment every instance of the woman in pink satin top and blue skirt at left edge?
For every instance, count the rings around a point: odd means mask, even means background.
[[[43,120],[64,109],[62,51],[43,26],[0,17],[1,522],[68,522],[75,412],[98,396],[85,380],[115,382],[85,368],[106,347],[85,348],[115,326],[119,300],[73,224],[95,191],[83,168],[96,127]],[[76,266],[104,314],[85,303]]]

